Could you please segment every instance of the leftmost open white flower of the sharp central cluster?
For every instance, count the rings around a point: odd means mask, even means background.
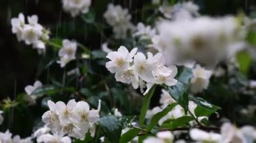
[[[133,61],[133,56],[136,54],[137,48],[133,48],[131,52],[125,48],[125,46],[120,46],[117,52],[109,52],[106,58],[111,61],[106,62],[106,68],[110,73],[117,73],[121,70],[127,70],[129,68],[129,63]]]

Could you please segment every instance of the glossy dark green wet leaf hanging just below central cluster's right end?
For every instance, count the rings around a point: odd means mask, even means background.
[[[164,89],[172,96],[172,98],[177,101],[181,107],[183,107],[185,113],[187,113],[189,107],[189,97],[187,93],[187,87],[183,84],[178,82],[177,85],[172,87],[165,86]]]

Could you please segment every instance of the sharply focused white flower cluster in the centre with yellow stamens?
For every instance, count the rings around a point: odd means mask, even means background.
[[[110,73],[115,73],[115,79],[122,83],[133,85],[134,89],[138,87],[147,87],[144,94],[154,84],[165,84],[168,86],[176,85],[177,80],[174,77],[177,75],[177,67],[164,66],[165,60],[161,53],[153,56],[148,52],[148,58],[141,53],[137,52],[137,48],[133,48],[131,52],[120,46],[115,52],[109,52],[106,58],[110,59],[106,62],[106,68]]]

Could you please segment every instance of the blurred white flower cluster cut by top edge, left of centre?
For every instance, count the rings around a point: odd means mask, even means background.
[[[62,0],[62,7],[64,11],[71,14],[72,17],[79,13],[88,13],[91,0]]]

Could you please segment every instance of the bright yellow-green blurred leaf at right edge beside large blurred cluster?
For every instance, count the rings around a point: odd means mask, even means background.
[[[236,53],[236,60],[239,65],[239,69],[242,73],[247,74],[251,63],[253,62],[253,58],[251,57],[251,54],[249,52],[242,50],[238,53]]]

